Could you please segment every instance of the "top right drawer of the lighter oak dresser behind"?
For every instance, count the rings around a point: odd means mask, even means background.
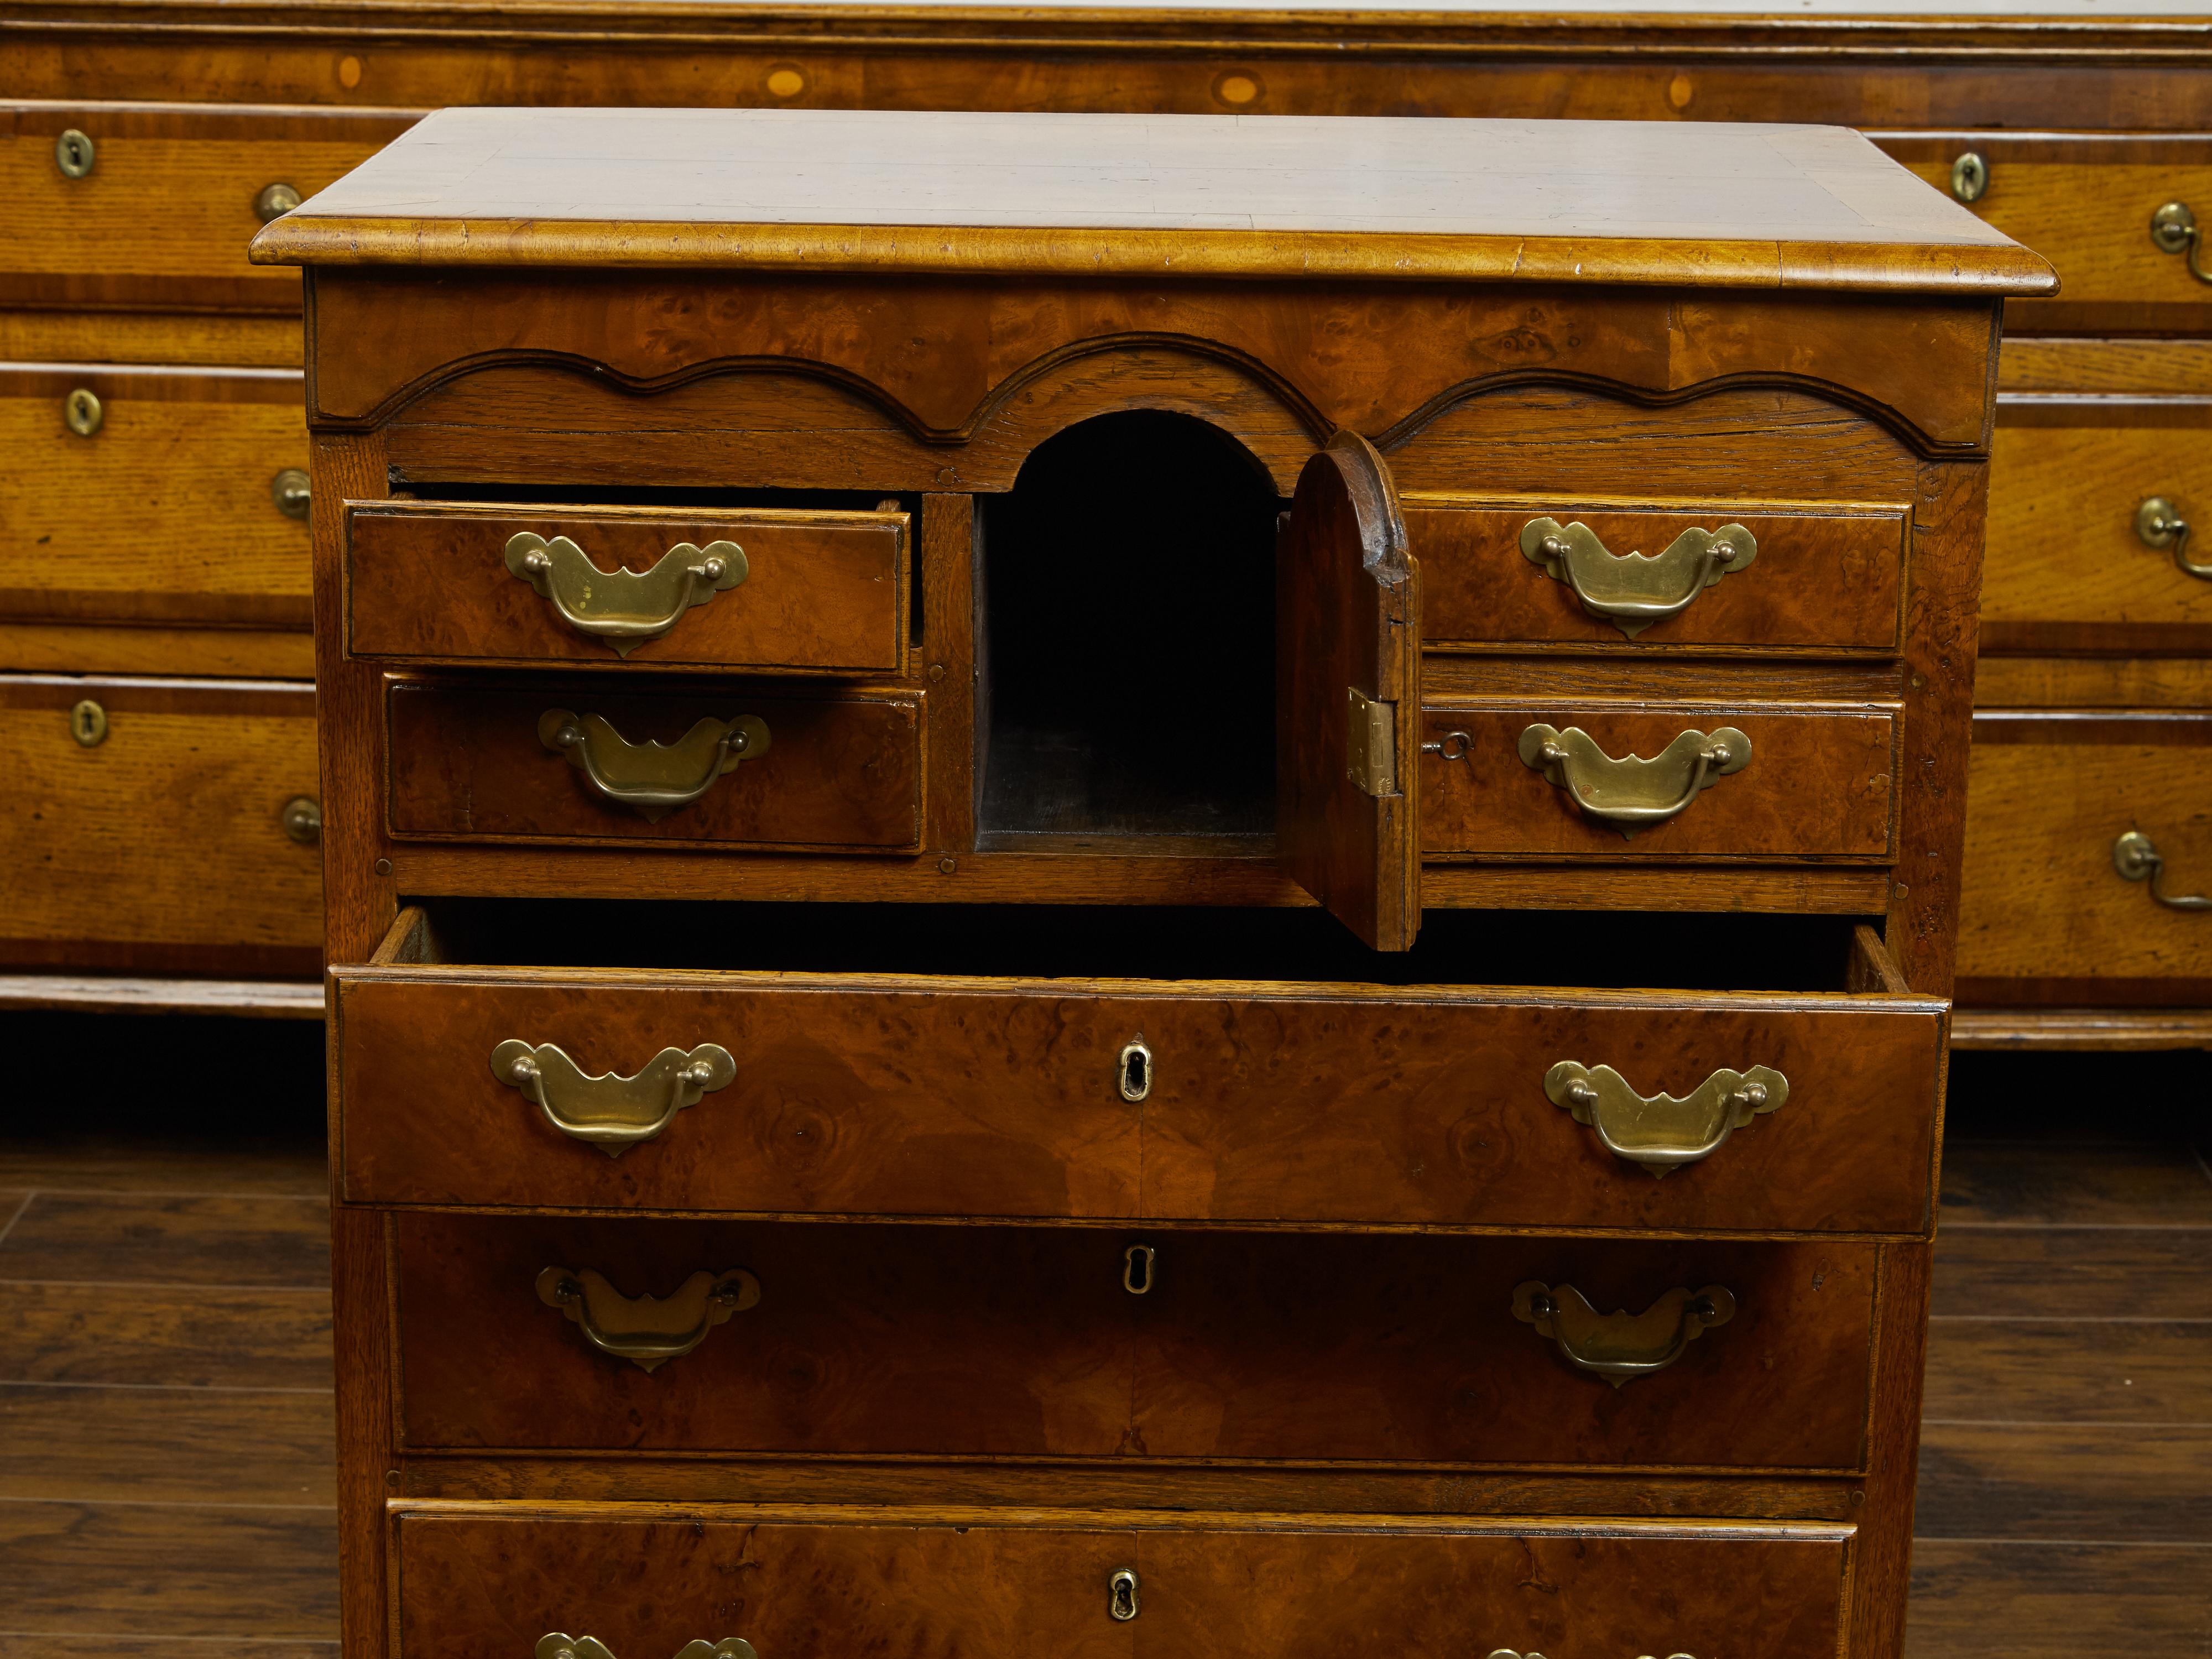
[[[2059,272],[2055,299],[2004,303],[2006,330],[2090,332],[2212,327],[2212,285],[2150,241],[2150,215],[2185,201],[2212,228],[2212,137],[2051,133],[1869,133],[1938,190],[1973,150],[1989,188],[1973,212]]]

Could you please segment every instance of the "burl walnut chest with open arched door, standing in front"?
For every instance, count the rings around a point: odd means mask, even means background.
[[[1840,128],[801,111],[254,259],[352,1659],[1898,1650],[2042,259]]]

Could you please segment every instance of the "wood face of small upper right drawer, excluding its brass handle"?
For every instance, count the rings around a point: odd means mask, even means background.
[[[1898,650],[1909,507],[1407,495],[1405,529],[1420,560],[1429,648],[1584,644],[1619,650],[1628,644],[1630,635],[1593,617],[1568,582],[1522,553],[1522,529],[1535,518],[1586,524],[1615,557],[1657,557],[1690,529],[1741,524],[1756,538],[1759,553],[1747,566],[1701,588],[1681,615],[1644,626],[1635,635],[1637,653],[1666,653],[1670,646],[1820,655]],[[1674,593],[1688,593],[1688,586]]]

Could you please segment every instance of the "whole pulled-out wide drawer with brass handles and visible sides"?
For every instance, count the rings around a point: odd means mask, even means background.
[[[1776,918],[1781,991],[1553,991],[1495,989],[1498,969],[1756,969],[1699,960],[1679,916],[1438,911],[1385,962],[1318,911],[593,911],[557,936],[526,907],[407,911],[334,969],[347,1201],[1929,1225],[1947,1004],[1845,922]]]

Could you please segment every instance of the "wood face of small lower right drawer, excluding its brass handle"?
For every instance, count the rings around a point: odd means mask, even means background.
[[[1752,566],[1756,571],[1756,566]],[[1728,708],[1425,701],[1420,849],[1431,858],[1820,858],[1887,860],[1896,827],[1893,708]],[[1520,757],[1531,726],[1582,728],[1613,759],[1666,752],[1681,732],[1734,728],[1752,741],[1739,772],[1674,818],[1619,827],[1586,816]],[[1455,739],[1455,734],[1462,734]],[[1451,759],[1458,752],[1460,759]]]

